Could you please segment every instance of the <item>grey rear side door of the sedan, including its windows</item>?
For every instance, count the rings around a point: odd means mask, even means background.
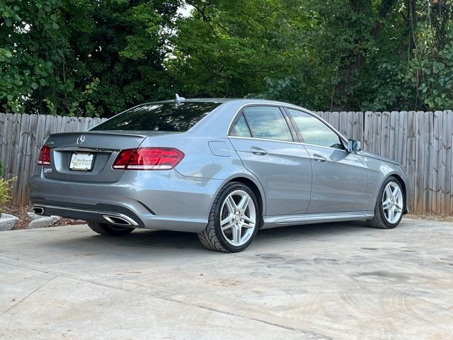
[[[301,214],[308,208],[311,160],[296,139],[278,106],[247,106],[231,126],[229,140],[264,188],[265,215]]]

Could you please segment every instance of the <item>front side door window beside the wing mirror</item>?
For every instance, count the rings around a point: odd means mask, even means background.
[[[343,149],[340,137],[321,120],[302,111],[292,109],[288,111],[297,124],[295,128],[299,129],[306,144]]]

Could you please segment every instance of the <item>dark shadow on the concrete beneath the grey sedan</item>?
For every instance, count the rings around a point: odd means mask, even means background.
[[[64,227],[61,227],[64,228]],[[251,249],[255,247],[268,246],[276,240],[298,242],[306,239],[322,240],[331,235],[345,235],[363,232],[367,228],[366,222],[331,222],[319,223],[314,225],[295,225],[290,227],[279,227],[272,229],[258,230],[256,238],[251,244]],[[369,228],[370,231],[377,229]],[[76,235],[79,234],[79,237]],[[59,248],[67,247],[74,249],[79,246],[84,248],[101,249],[134,249],[135,251],[171,250],[171,249],[192,249],[206,251],[200,244],[197,235],[190,232],[173,232],[167,230],[147,230],[135,229],[134,232],[123,237],[105,237],[95,234],[88,227],[86,230],[81,227],[76,232],[72,232],[74,237],[64,239],[47,239],[46,245]]]

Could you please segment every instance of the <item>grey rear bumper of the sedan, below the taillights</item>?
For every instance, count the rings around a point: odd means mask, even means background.
[[[124,217],[131,227],[200,232],[222,180],[169,171],[125,171],[115,183],[47,179],[37,166],[30,179],[30,203],[44,215],[106,222]]]

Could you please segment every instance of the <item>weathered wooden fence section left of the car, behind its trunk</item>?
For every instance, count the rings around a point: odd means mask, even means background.
[[[98,125],[101,118],[0,113],[0,160],[4,179],[17,177],[13,204],[28,204],[28,179],[44,141],[51,133],[77,132]]]

